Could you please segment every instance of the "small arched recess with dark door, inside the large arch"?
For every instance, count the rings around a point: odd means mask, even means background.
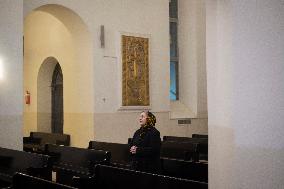
[[[47,57],[37,77],[37,131],[63,133],[63,74],[58,60]]]

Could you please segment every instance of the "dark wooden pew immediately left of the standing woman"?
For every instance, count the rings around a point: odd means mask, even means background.
[[[111,153],[110,163],[112,166],[124,168],[130,167],[128,144],[90,141],[88,149],[109,151]]]

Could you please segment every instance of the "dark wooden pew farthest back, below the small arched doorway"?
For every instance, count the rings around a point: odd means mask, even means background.
[[[59,133],[30,132],[29,137],[23,137],[23,149],[27,152],[44,151],[45,144],[70,145],[70,135]]]

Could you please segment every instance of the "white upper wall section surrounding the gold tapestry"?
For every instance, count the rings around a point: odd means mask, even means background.
[[[150,95],[153,111],[169,111],[168,1],[105,1],[97,3],[95,33],[95,112],[113,113],[121,106],[120,35],[146,35],[150,38]],[[105,26],[106,46],[99,47],[100,25]],[[115,57],[115,58],[111,58]],[[104,70],[102,72],[102,70]],[[106,87],[107,86],[107,87]],[[106,99],[103,101],[102,99]]]

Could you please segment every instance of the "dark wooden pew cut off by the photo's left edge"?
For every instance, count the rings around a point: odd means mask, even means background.
[[[7,148],[0,148],[0,182],[11,184],[16,172],[51,179],[50,157]]]

